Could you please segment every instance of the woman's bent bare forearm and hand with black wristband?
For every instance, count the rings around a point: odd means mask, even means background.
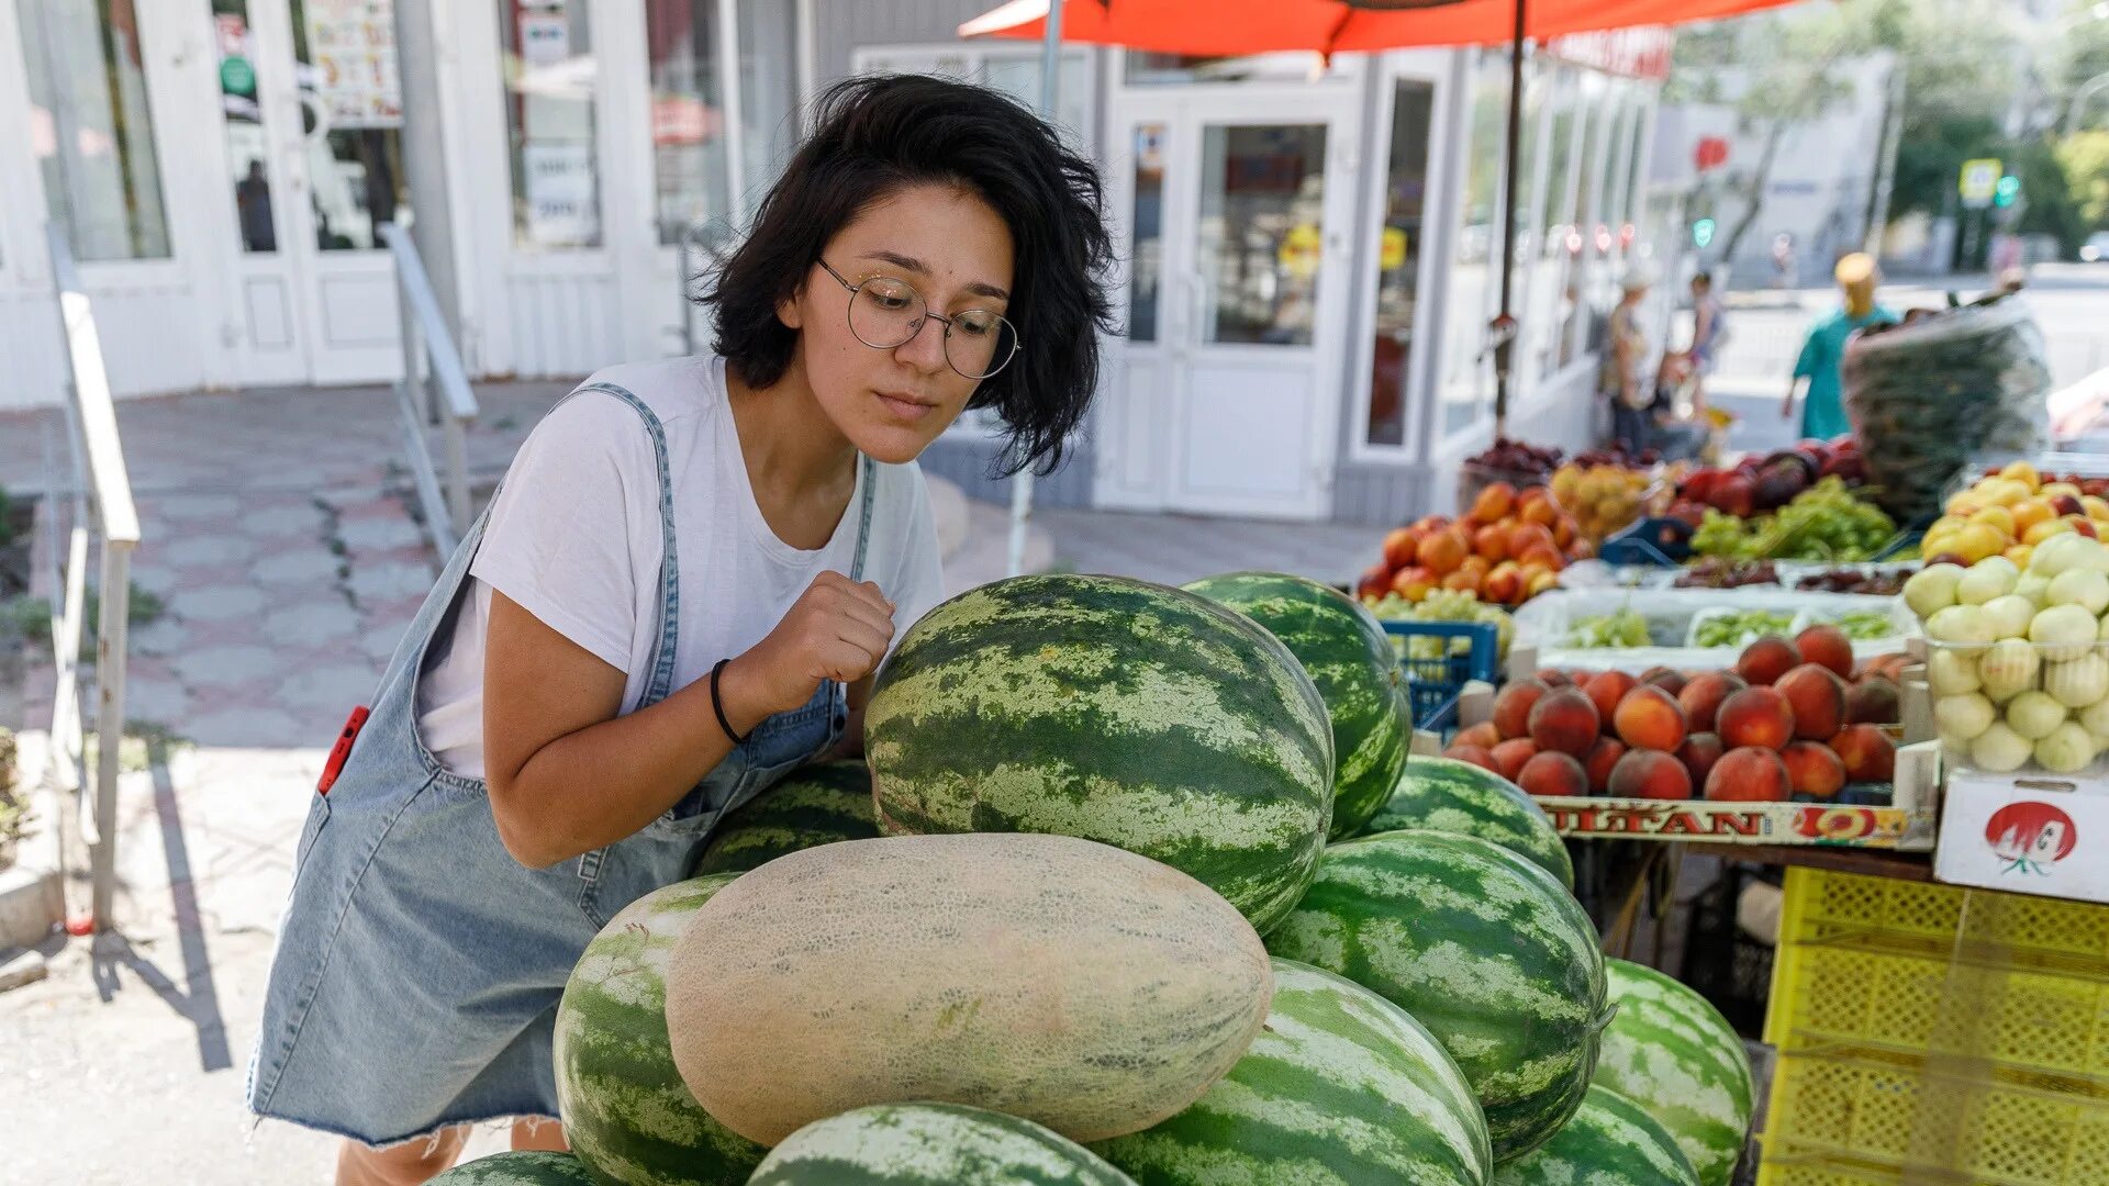
[[[744,737],[804,705],[820,680],[869,677],[892,633],[892,604],[875,585],[823,572],[766,639],[725,665],[725,720]],[[546,867],[633,836],[732,751],[709,680],[616,715],[624,680],[491,591],[483,766],[498,836],[519,863]]]

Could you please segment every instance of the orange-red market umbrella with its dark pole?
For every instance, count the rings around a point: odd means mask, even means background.
[[[1010,0],[960,25],[962,38],[1040,38],[1050,0]],[[1510,279],[1516,253],[1516,139],[1521,137],[1523,42],[1632,25],[1715,21],[1795,0],[1063,0],[1063,40],[1156,53],[1234,57],[1303,49],[1318,53],[1510,42],[1510,215],[1502,226],[1502,317],[1493,323],[1493,424],[1508,422],[1508,361],[1516,319]]]

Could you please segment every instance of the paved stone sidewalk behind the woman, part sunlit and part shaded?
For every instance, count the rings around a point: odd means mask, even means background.
[[[481,487],[567,388],[477,388]],[[55,416],[0,416],[0,485],[42,490],[46,420],[57,428]],[[97,956],[57,937],[42,948],[51,975],[0,994],[0,1116],[8,1135],[30,1135],[4,1142],[0,1180],[327,1182],[333,1140],[251,1133],[243,1080],[325,747],[437,572],[392,462],[394,401],[382,388],[183,395],[120,403],[118,422],[143,530],[133,578],[165,601],[133,631],[127,715],[156,741],[127,751],[120,781],[124,939]],[[63,449],[57,431],[51,441]],[[1002,576],[1006,509],[957,511],[947,585]],[[1038,513],[1036,532],[1031,568],[1164,582],[1234,568],[1348,580],[1379,536],[1069,509]],[[40,728],[49,667],[32,667],[25,692]],[[86,884],[67,895],[86,903]],[[502,1144],[479,1133],[470,1152]]]

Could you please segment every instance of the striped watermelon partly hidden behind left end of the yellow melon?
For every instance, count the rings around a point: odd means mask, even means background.
[[[563,986],[557,1112],[603,1186],[738,1186],[768,1152],[696,1104],[666,1038],[675,941],[734,876],[675,882],[622,907]]]

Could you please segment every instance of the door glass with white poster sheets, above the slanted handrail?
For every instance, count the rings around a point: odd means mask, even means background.
[[[323,251],[371,251],[382,245],[382,226],[409,224],[392,8],[392,0],[291,4],[308,196]]]

